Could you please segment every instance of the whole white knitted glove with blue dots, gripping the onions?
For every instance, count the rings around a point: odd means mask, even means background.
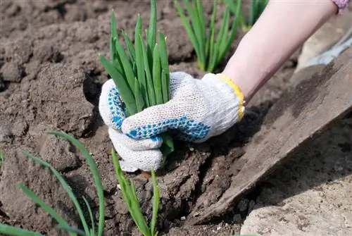
[[[145,108],[128,118],[112,80],[102,88],[99,111],[109,127],[113,145],[122,157],[122,170],[150,171],[161,166],[160,134],[175,131],[175,138],[205,142],[220,135],[244,114],[244,98],[225,75],[208,73],[196,80],[184,72],[170,73],[170,101]]]

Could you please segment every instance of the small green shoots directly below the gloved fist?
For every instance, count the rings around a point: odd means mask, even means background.
[[[159,190],[156,182],[156,175],[153,170],[151,170],[151,180],[153,182],[153,213],[151,215],[151,222],[148,226],[141,210],[141,206],[137,199],[136,189],[132,180],[129,181],[124,177],[122,170],[120,168],[120,163],[115,154],[114,150],[111,150],[113,156],[113,164],[115,166],[115,173],[118,182],[120,183],[122,197],[127,205],[128,211],[133,218],[134,223],[137,225],[137,228],[144,236],[156,236],[156,218],[158,217],[158,208],[159,208]]]

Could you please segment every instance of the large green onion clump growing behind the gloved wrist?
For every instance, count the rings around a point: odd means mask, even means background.
[[[208,30],[201,0],[194,0],[192,4],[189,0],[183,0],[183,2],[189,18],[186,17],[179,2],[175,1],[175,6],[184,29],[194,46],[199,68],[203,71],[213,72],[231,49],[231,44],[237,33],[237,15],[240,14],[241,8],[237,9],[234,21],[231,23],[231,11],[226,8],[222,14],[220,29],[216,31],[215,20],[217,18],[218,0],[214,0],[213,2],[213,13],[210,18]]]

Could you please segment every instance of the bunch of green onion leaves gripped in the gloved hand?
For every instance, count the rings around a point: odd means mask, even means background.
[[[99,61],[113,79],[124,101],[127,116],[143,111],[149,106],[164,104],[170,99],[168,49],[165,35],[156,29],[155,0],[151,0],[149,29],[145,32],[144,43],[142,19],[138,14],[134,40],[121,31],[125,49],[120,42],[115,14],[112,11],[110,61],[99,54]],[[168,132],[163,133],[162,137],[161,151],[164,156],[168,156],[174,150],[172,137]]]

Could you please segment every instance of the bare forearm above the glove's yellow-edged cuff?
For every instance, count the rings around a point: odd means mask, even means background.
[[[248,103],[298,46],[335,13],[337,6],[331,0],[269,1],[223,73],[234,80]]]

